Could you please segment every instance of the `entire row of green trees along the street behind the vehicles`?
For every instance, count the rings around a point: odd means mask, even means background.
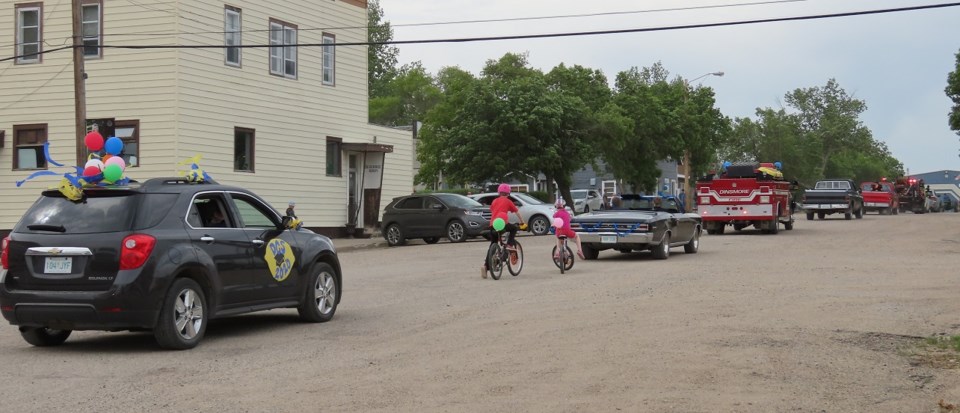
[[[379,1],[368,4],[371,41],[392,39]],[[780,161],[787,178],[808,185],[903,174],[860,120],[866,103],[833,79],[787,93],[786,108],[730,119],[716,108],[712,88],[671,78],[659,62],[622,71],[611,85],[601,71],[579,65],[543,72],[525,54],[488,60],[479,75],[455,66],[434,75],[419,62],[397,67],[392,47],[371,47],[369,58],[370,121],[423,124],[417,183],[442,176],[477,185],[543,174],[570,199],[573,173],[602,159],[603,172],[654,191],[657,162],[684,155],[694,176],[723,161]],[[951,79],[951,96],[960,102],[960,80]]]

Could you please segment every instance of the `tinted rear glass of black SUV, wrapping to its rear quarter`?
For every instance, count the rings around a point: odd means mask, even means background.
[[[45,192],[23,215],[15,232],[93,234],[128,231],[132,226],[134,214],[143,207],[139,201],[146,201],[143,199],[144,196],[144,194],[129,191],[104,191],[103,193],[88,191],[82,201],[73,202],[57,192]],[[175,194],[173,196],[176,197]],[[169,208],[172,203],[172,200],[164,200],[167,201],[164,203],[152,198],[149,201],[142,204],[165,205]],[[165,215],[156,208],[148,209],[150,211],[141,210],[142,218],[137,222],[138,228],[156,225]]]

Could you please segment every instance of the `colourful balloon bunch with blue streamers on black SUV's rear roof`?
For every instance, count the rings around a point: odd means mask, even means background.
[[[94,131],[87,134],[84,142],[87,145],[87,149],[90,149],[91,152],[94,153],[91,153],[90,156],[87,157],[88,160],[83,167],[74,166],[72,167],[74,171],[67,173],[50,170],[37,171],[22,181],[17,181],[17,187],[22,186],[27,181],[38,176],[62,175],[63,178],[60,180],[60,184],[52,189],[59,190],[64,197],[71,201],[79,201],[83,199],[84,188],[126,185],[130,182],[130,178],[123,176],[126,164],[123,158],[118,156],[123,152],[123,141],[119,138],[112,137],[105,142],[103,137]],[[106,154],[101,155],[96,153],[101,149],[106,149]],[[50,165],[66,167],[64,164],[54,161],[53,158],[50,157],[50,142],[43,144],[43,156]]]

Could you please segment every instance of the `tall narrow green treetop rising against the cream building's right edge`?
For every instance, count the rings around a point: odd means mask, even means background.
[[[380,0],[367,2],[367,41],[383,43],[393,40],[393,28],[383,19]],[[387,95],[388,84],[397,74],[399,50],[388,44],[367,47],[367,93],[370,97]]]

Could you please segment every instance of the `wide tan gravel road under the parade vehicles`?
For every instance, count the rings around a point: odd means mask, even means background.
[[[485,242],[344,252],[333,321],[216,320],[35,348],[0,326],[4,412],[939,412],[960,402],[960,214],[806,221],[705,235],[698,254],[604,251],[565,275],[521,238],[519,277],[481,279]],[[943,409],[943,411],[949,411]]]

